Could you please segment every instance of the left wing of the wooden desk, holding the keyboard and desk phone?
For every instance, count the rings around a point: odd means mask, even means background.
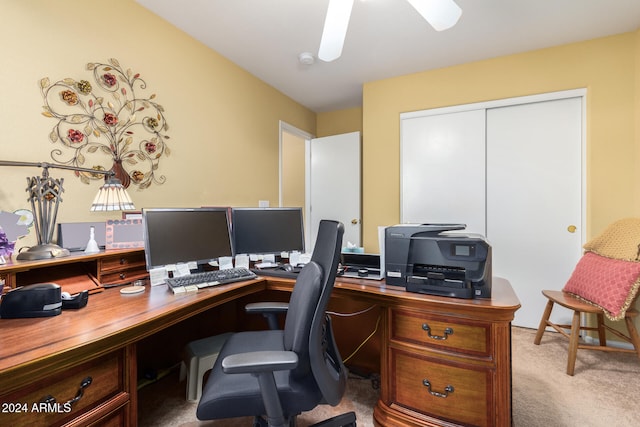
[[[0,319],[0,424],[88,425],[100,421],[135,426],[136,343],[265,286],[264,280],[253,280],[182,295],[174,295],[166,286],[147,287],[145,293],[135,295],[122,295],[119,288],[112,288],[91,295],[87,307],[65,310],[59,316]],[[66,407],[34,412],[33,404],[46,395],[59,403],[74,398],[89,376],[92,384],[71,412]],[[17,410],[27,414],[15,413]]]

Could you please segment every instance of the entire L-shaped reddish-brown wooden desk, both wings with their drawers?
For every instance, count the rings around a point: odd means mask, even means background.
[[[137,252],[60,263],[71,271],[78,263],[97,262],[100,270],[103,258],[126,259]],[[22,285],[19,274],[56,264],[0,266],[0,278]],[[120,277],[127,280],[126,274]],[[286,295],[293,285],[290,279],[259,277],[178,295],[164,285],[147,285],[134,295],[97,288],[80,310],[0,319],[0,424],[135,426],[138,343],[245,297]],[[332,303],[340,300],[380,307],[376,425],[511,425],[511,320],[520,303],[506,280],[494,278],[491,299],[463,300],[339,278]]]

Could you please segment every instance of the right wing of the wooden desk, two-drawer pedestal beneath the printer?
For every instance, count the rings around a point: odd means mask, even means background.
[[[493,279],[490,300],[405,292],[359,281],[336,283],[335,298],[383,307],[380,426],[511,426],[511,285]]]

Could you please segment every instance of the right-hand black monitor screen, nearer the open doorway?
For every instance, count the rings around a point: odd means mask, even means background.
[[[231,224],[236,254],[304,252],[302,208],[234,208]]]

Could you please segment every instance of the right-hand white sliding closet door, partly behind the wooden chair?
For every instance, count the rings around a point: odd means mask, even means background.
[[[487,238],[518,326],[538,327],[542,289],[561,289],[582,254],[582,99],[487,110]]]

